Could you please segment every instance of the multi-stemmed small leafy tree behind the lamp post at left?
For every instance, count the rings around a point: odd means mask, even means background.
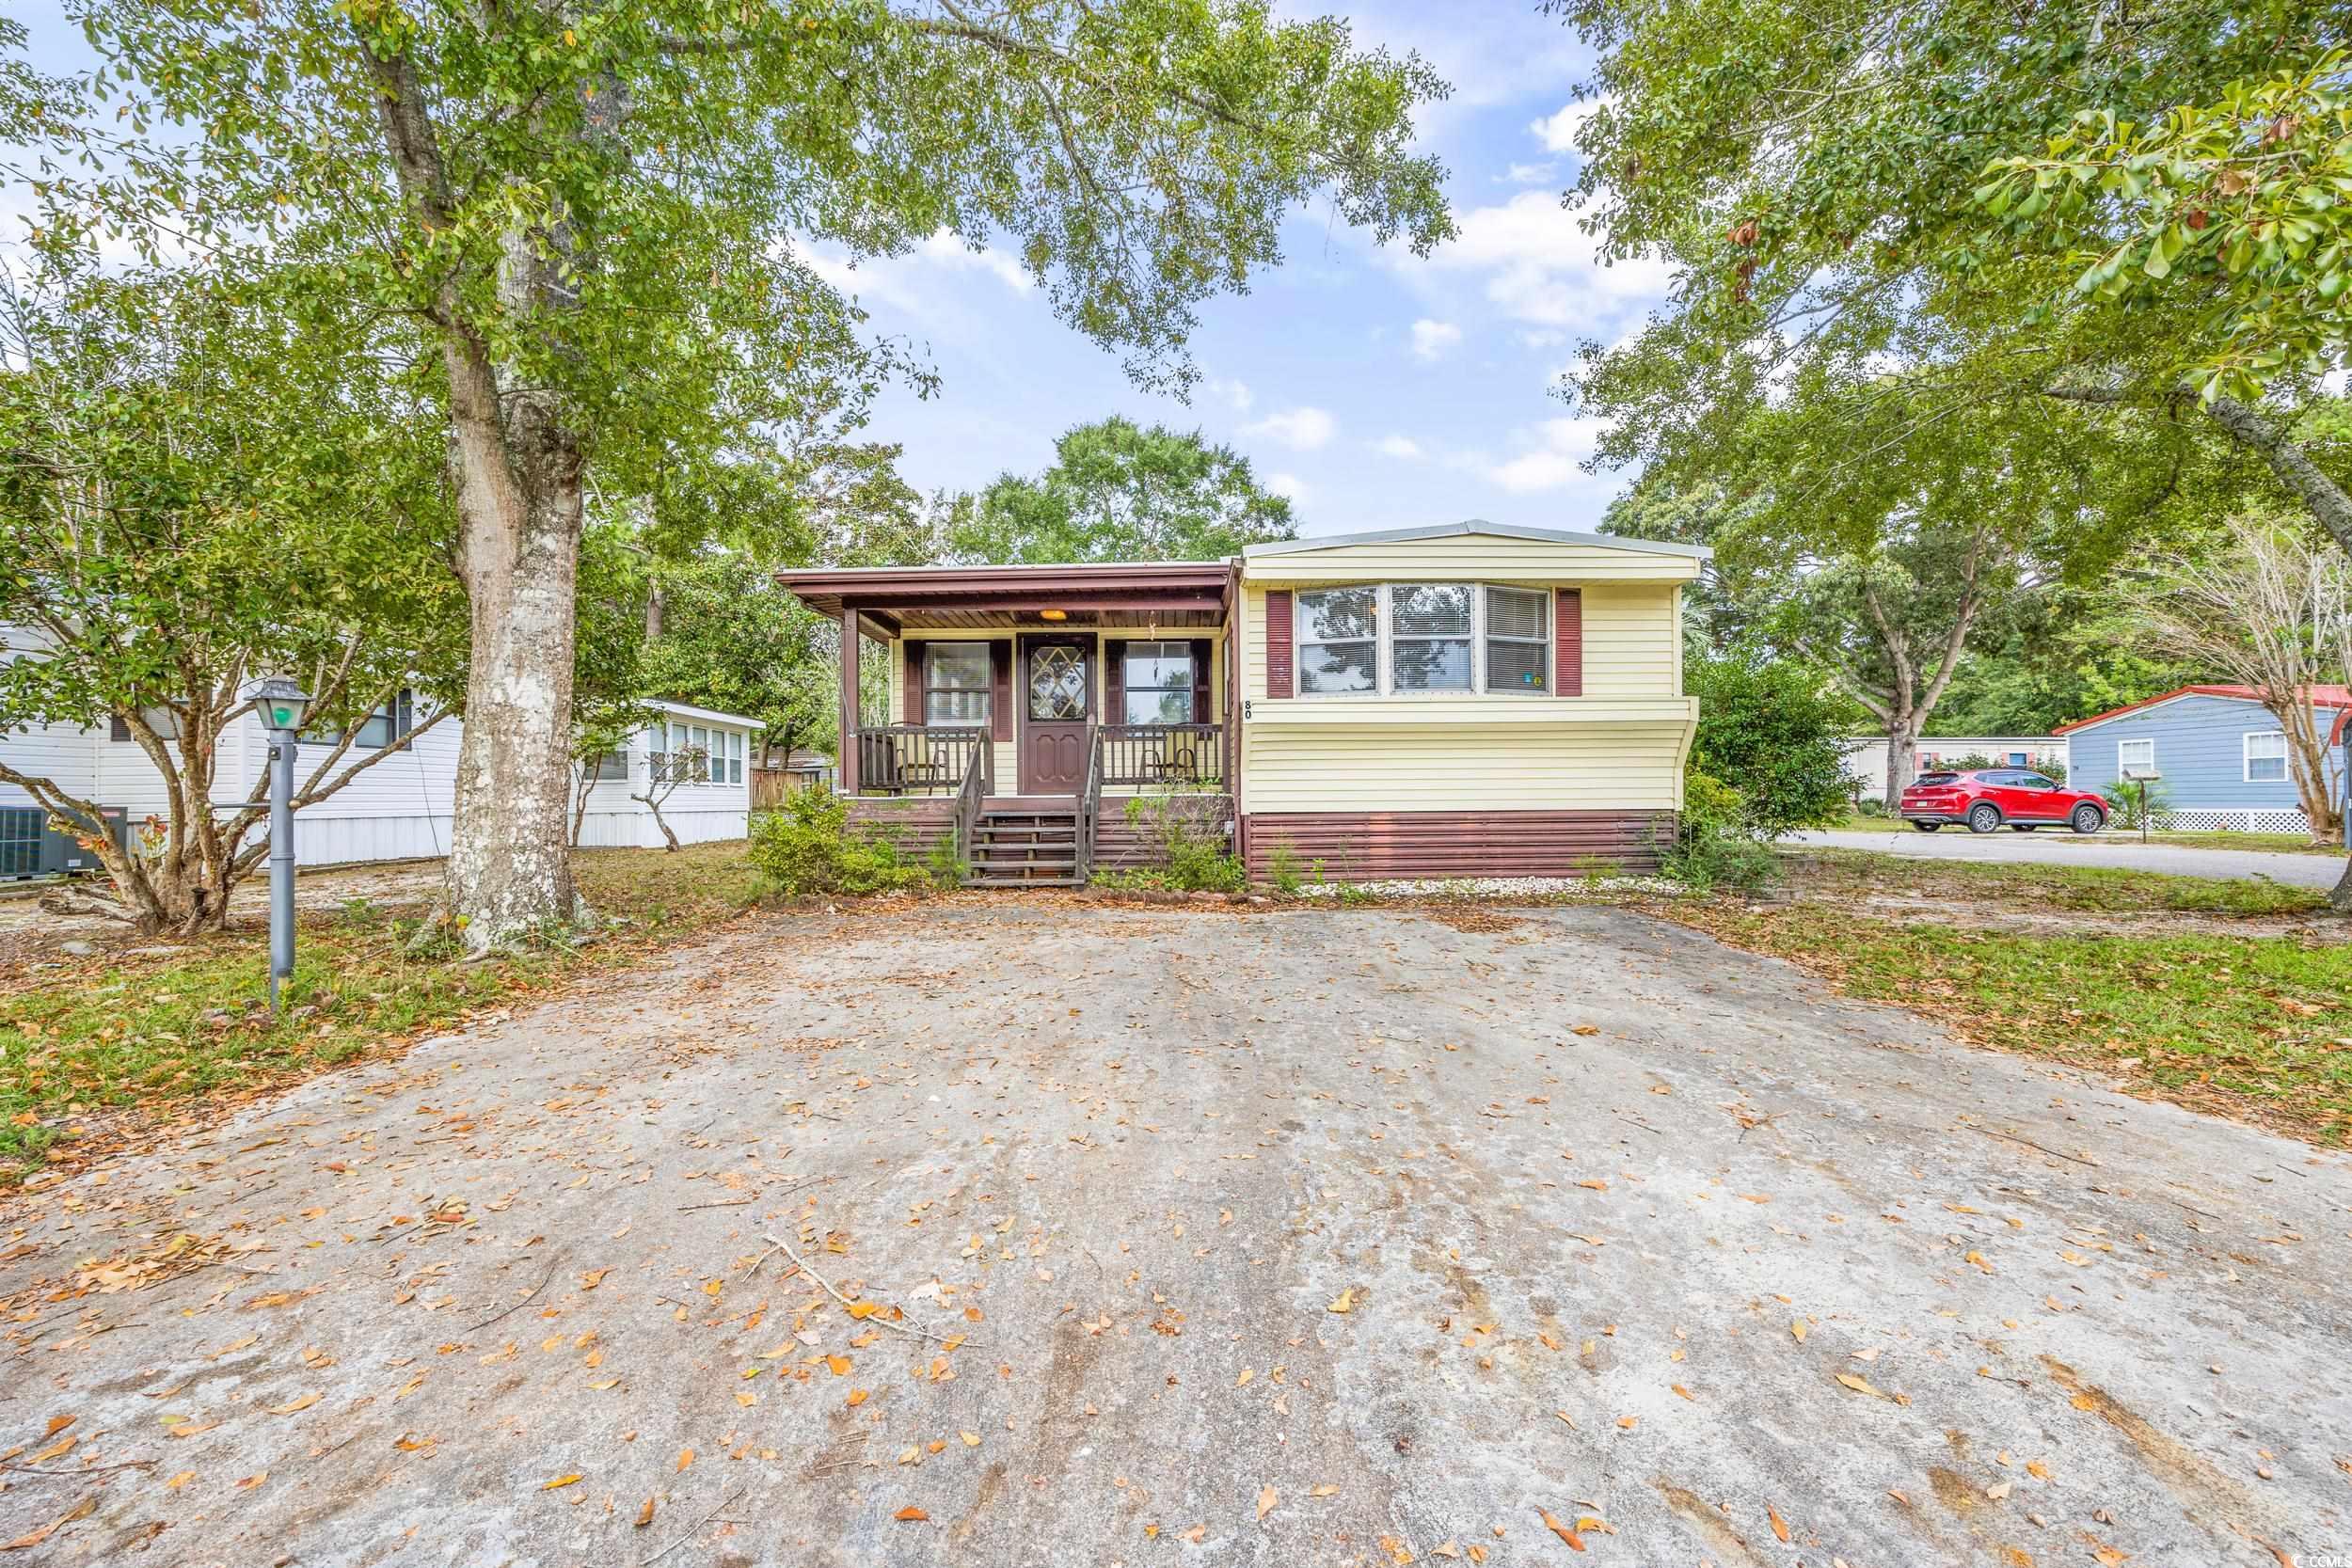
[[[80,778],[0,780],[89,842],[115,896],[94,912],[148,933],[219,929],[268,853],[268,771],[223,776],[221,752],[254,677],[301,682],[332,731],[296,809],[445,722],[463,682],[430,411],[355,322],[280,322],[172,275],[0,277],[0,733],[113,729],[162,811],[125,844]],[[414,729],[362,743],[400,693]]]

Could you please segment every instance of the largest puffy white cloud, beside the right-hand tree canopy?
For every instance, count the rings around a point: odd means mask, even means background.
[[[1409,266],[1409,263],[1404,263]],[[1602,266],[1592,235],[1543,190],[1522,190],[1501,207],[1461,216],[1461,235],[1428,266],[1484,273],[1486,299],[1538,327],[1597,327],[1665,299],[1672,268],[1637,259]]]

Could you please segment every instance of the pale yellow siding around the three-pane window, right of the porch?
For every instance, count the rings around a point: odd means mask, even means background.
[[[1272,811],[1677,811],[1698,705],[1682,693],[1682,583],[1700,562],[1446,536],[1242,567],[1242,802]],[[1583,696],[1265,696],[1265,590],[1543,583],[1583,592]]]

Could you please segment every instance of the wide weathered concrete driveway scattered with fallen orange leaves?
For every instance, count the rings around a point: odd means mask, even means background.
[[[743,924],[21,1199],[0,1542],[2352,1552],[2340,1159],[1637,914],[1449,919]]]

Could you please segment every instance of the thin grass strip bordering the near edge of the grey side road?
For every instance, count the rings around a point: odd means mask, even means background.
[[[2317,914],[2321,889],[2263,877],[2173,877],[2103,865],[2025,865],[2006,860],[1917,860],[1867,849],[1783,851],[1790,882],[1802,893],[1903,893],[1952,903],[1997,903],[2016,910],[2079,910],[2122,914],[2173,910],[2183,914]]]

